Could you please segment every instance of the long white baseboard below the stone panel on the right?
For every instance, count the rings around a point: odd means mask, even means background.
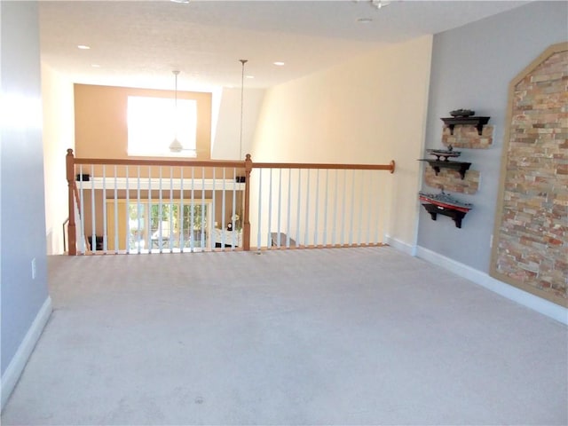
[[[459,275],[466,280],[473,281],[476,284],[497,293],[498,295],[507,297],[509,300],[517,302],[517,304],[522,304],[527,308],[533,309],[534,311],[540,312],[549,318],[556,319],[557,321],[568,325],[568,309],[560,306],[559,304],[553,304],[552,302],[548,302],[548,300],[539,296],[534,296],[520,288],[513,287],[500,280],[495,280],[485,272],[478,271],[466,264],[456,262],[455,260],[442,256],[428,248],[418,246],[416,248],[416,256],[432,264],[438,264],[438,266],[441,266],[450,272],[454,272],[456,275]]]

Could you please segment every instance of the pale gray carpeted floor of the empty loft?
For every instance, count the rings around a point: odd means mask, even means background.
[[[54,256],[2,424],[568,422],[560,323],[393,248]]]

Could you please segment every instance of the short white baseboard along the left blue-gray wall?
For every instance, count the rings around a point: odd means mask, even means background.
[[[51,297],[47,296],[45,302],[39,312],[37,312],[36,319],[32,325],[28,328],[28,333],[24,337],[24,340],[20,343],[18,351],[14,354],[10,365],[4,371],[2,375],[2,384],[0,388],[0,394],[2,394],[2,409],[4,405],[10,398],[12,390],[16,387],[16,383],[20,379],[20,375],[24,371],[24,367],[28,363],[29,356],[34,351],[36,343],[39,340],[39,336],[42,335],[43,327],[47,323],[47,320],[51,315]]]

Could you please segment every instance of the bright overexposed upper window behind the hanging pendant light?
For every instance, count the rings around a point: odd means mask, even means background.
[[[197,102],[170,98],[128,97],[128,154],[136,156],[195,157]],[[177,133],[177,134],[176,134]],[[184,146],[170,152],[176,138]]]

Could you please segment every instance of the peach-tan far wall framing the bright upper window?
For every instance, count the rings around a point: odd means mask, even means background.
[[[129,96],[171,97],[173,99],[174,92],[75,84],[75,154],[77,157],[128,158],[126,114]],[[198,158],[209,160],[211,156],[211,93],[178,91],[177,97],[197,101]]]

